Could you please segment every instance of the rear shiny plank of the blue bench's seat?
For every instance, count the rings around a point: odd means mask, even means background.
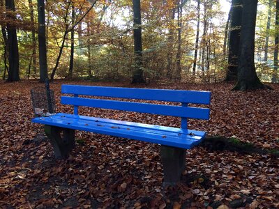
[[[61,117],[61,118],[75,118],[77,120],[82,119],[84,121],[99,121],[100,123],[121,123],[123,125],[126,125],[127,127],[142,127],[144,129],[151,129],[151,130],[161,130],[166,132],[174,132],[174,133],[181,133],[181,134],[194,134],[195,136],[204,137],[205,132],[198,131],[198,130],[188,130],[188,129],[182,129],[179,127],[167,127],[163,125],[151,125],[151,124],[144,124],[144,123],[135,123],[130,121],[117,121],[113,119],[108,118],[96,118],[91,116],[75,116],[73,114],[64,114],[64,113],[58,113],[55,116]]]

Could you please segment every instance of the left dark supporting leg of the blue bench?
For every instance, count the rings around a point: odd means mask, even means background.
[[[66,159],[75,147],[75,130],[45,125],[45,134],[50,139],[56,159]]]

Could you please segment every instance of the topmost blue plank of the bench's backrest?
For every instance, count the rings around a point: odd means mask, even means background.
[[[169,89],[120,88],[79,85],[62,85],[61,93],[197,104],[210,104],[211,98],[211,93],[209,91],[183,91]]]

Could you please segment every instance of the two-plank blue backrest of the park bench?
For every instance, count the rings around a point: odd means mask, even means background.
[[[103,109],[116,109],[122,111],[136,111],[165,116],[176,116],[183,118],[183,123],[186,123],[186,118],[209,119],[209,109],[188,107],[188,103],[210,104],[211,93],[209,91],[62,85],[61,93],[73,94],[73,97],[62,96],[61,104],[74,105],[74,114],[78,114],[78,106],[85,106]],[[96,98],[79,98],[79,95],[138,100],[157,100],[164,102],[181,102],[181,106],[124,102]],[[185,125],[181,124],[181,126]]]

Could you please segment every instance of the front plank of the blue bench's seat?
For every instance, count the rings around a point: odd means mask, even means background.
[[[115,128],[108,126],[98,125],[99,122],[84,121],[75,118],[61,118],[57,116],[50,116],[45,118],[33,118],[34,123],[42,123],[45,125],[55,125],[59,127],[66,127],[75,130],[84,130],[88,132],[96,132],[98,134],[109,134],[115,137],[123,137],[128,139],[136,139],[141,141],[147,141],[155,144],[163,144],[166,146],[174,146],[179,148],[192,148],[199,144],[201,139],[194,139],[193,137],[172,137],[169,135],[158,134],[158,132],[146,132],[139,127],[137,130],[128,130],[125,128]]]

